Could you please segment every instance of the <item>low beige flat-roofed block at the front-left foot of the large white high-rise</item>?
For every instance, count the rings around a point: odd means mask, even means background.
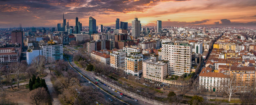
[[[163,82],[164,76],[168,73],[169,61],[145,60],[142,63],[143,77],[149,80]]]

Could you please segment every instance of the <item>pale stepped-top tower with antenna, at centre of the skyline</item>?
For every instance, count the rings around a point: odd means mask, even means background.
[[[139,37],[140,30],[140,21],[135,17],[134,20],[132,20],[132,36],[134,38]]]

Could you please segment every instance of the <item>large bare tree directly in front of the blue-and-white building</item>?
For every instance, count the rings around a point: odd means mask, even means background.
[[[33,65],[34,67],[39,70],[40,74],[43,74],[44,73],[44,66],[46,64],[46,58],[45,56],[42,56],[42,55],[39,55],[39,56],[36,56],[33,60]]]

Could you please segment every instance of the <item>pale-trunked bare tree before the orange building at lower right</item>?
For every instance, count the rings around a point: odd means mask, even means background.
[[[238,90],[238,87],[240,86],[240,83],[236,81],[236,77],[234,76],[227,76],[222,82],[221,82],[222,90],[228,95],[228,102],[230,102],[231,96],[233,96],[235,93],[240,92]]]

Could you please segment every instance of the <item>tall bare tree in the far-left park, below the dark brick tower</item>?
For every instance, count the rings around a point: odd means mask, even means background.
[[[23,69],[24,69],[24,66],[20,62],[12,62],[11,65],[10,65],[10,70],[11,70],[12,73],[14,73],[15,78],[17,80],[18,88],[19,88],[20,80],[23,77],[23,74],[22,74]]]

